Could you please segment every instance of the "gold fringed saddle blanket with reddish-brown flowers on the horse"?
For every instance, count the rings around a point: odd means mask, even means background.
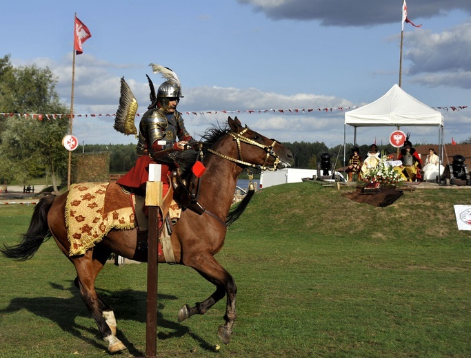
[[[140,231],[146,231],[148,222],[147,218],[141,215],[141,207],[137,207],[139,202],[143,203],[143,200],[136,200],[133,194],[123,191],[116,183],[83,182],[72,185],[65,209],[67,235],[70,242],[69,256],[83,255],[88,249],[101,242],[112,229],[138,229],[139,222]],[[178,206],[177,208],[175,206],[177,205],[172,201],[172,191],[169,190],[163,198],[161,207],[163,217],[166,218],[170,208],[178,209]],[[134,207],[136,207],[135,211]],[[178,215],[178,211],[177,214],[172,213],[172,215]],[[164,235],[167,237],[161,237],[160,240],[167,239],[168,246],[170,235],[168,232],[163,232]],[[167,262],[170,258],[168,256],[170,255],[166,255]]]

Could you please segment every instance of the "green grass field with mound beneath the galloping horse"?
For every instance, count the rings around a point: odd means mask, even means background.
[[[237,282],[238,319],[220,344],[225,302],[177,322],[213,286],[159,266],[158,357],[471,357],[471,232],[453,204],[471,189],[405,191],[385,208],[317,182],[257,193],[217,259]],[[0,244],[26,231],[32,207],[0,207]],[[50,240],[28,262],[0,257],[0,357],[106,357],[107,344]],[[103,268],[97,291],[118,337],[146,350],[146,264]]]

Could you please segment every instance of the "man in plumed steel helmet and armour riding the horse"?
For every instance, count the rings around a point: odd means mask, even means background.
[[[119,185],[133,188],[141,195],[146,191],[149,178],[150,163],[161,165],[161,182],[163,182],[163,196],[170,186],[169,173],[177,167],[175,157],[179,151],[190,149],[188,143],[192,137],[185,128],[183,117],[177,111],[181,95],[181,85],[177,74],[167,67],[152,65],[154,73],[161,73],[164,78],[157,90],[157,97],[153,98],[148,111],[143,114],[139,123],[139,142],[137,154],[139,158],[134,167],[117,180]],[[153,85],[151,84],[151,100]],[[177,140],[178,138],[178,140]]]

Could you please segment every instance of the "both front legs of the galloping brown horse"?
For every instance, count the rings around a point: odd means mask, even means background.
[[[226,315],[224,319],[226,324],[219,326],[218,334],[223,344],[230,342],[232,335],[232,328],[237,318],[236,315],[236,294],[237,286],[234,282],[234,278],[226,271],[219,262],[214,259],[209,253],[204,257],[194,257],[192,262],[188,263],[187,266],[194,268],[200,275],[206,280],[216,285],[216,291],[210,297],[205,299],[203,302],[198,302],[194,307],[183,305],[179,311],[179,322],[191,317],[192,315],[198,314],[203,315],[206,313],[219,299],[223,298],[227,294],[226,302]]]

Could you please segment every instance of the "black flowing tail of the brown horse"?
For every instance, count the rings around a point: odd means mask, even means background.
[[[21,241],[14,246],[3,244],[0,252],[6,257],[18,261],[29,260],[39,246],[51,237],[48,227],[48,212],[54,202],[55,196],[45,196],[37,203],[32,213],[30,227],[28,231],[21,235]]]

